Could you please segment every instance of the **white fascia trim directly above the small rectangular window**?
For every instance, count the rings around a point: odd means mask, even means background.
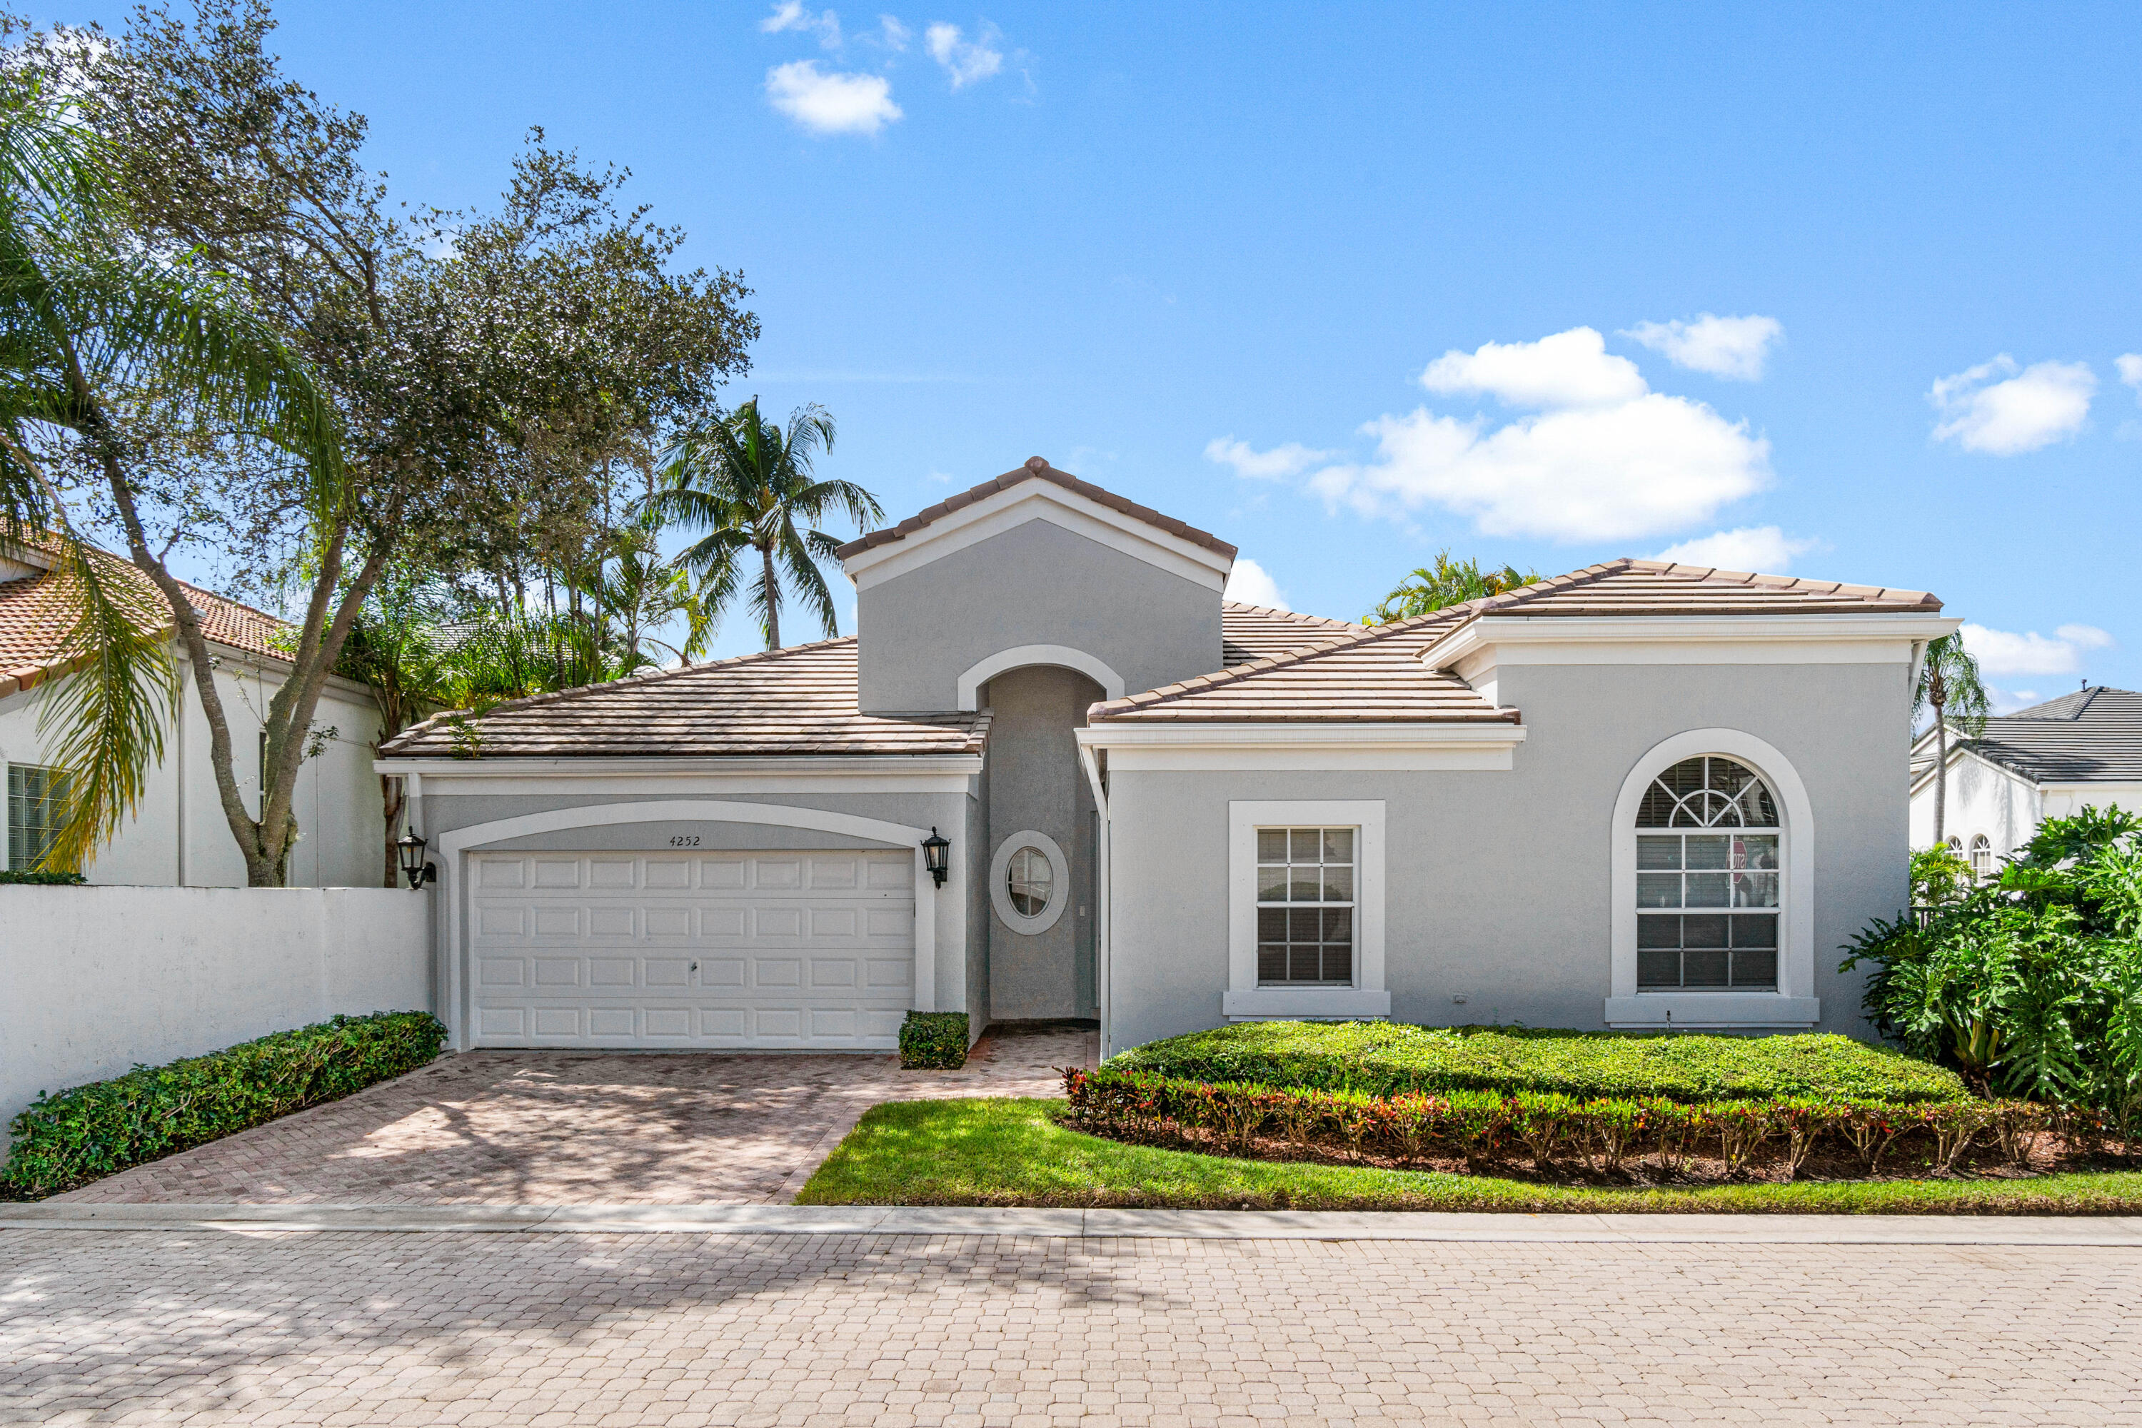
[[[1080,749],[1107,749],[1127,773],[1202,769],[1506,771],[1523,724],[1099,724],[1073,730]]]

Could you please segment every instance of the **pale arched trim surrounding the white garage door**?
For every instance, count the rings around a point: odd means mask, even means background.
[[[930,837],[930,829],[915,829],[900,822],[887,822],[883,818],[863,818],[859,814],[838,814],[829,809],[812,807],[790,807],[780,803],[735,803],[722,799],[666,799],[647,803],[604,803],[593,807],[572,807],[572,809],[548,809],[540,814],[521,814],[516,818],[499,818],[493,822],[469,824],[465,829],[454,829],[439,835],[439,906],[446,916],[446,927],[439,944],[446,951],[441,959],[443,970],[443,996],[441,1004],[446,1008],[446,1026],[450,1030],[452,1045],[465,1049],[471,1040],[471,942],[473,931],[469,927],[471,908],[471,854],[480,852],[491,844],[499,844],[516,837],[531,837],[540,833],[559,833],[568,829],[604,829],[615,824],[640,824],[640,822],[748,822],[775,829],[803,829],[814,833],[840,833],[848,837],[870,839],[885,844],[887,848],[906,848],[912,856],[912,878],[915,878],[915,1011],[936,1011],[936,963],[938,963],[938,916],[936,916],[936,895],[938,886],[930,878],[923,865],[921,841]],[[962,897],[960,882],[962,861],[953,859],[951,878],[953,884],[942,888],[953,899]],[[957,906],[957,903],[955,903]],[[957,959],[960,948],[951,948]]]

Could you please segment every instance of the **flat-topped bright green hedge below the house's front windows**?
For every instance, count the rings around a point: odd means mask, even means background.
[[[1459,1090],[1553,1092],[1579,1098],[1705,1100],[1962,1100],[1943,1066],[1849,1036],[1690,1036],[1422,1028],[1397,1021],[1242,1021],[1146,1043],[1112,1070],[1189,1081],[1349,1090],[1367,1096]]]

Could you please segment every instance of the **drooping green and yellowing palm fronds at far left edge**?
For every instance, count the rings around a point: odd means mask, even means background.
[[[79,540],[32,432],[69,432],[92,465],[124,469],[114,409],[154,390],[298,454],[319,503],[336,499],[341,475],[334,415],[304,368],[223,274],[126,242],[109,171],[96,135],[36,86],[0,96],[0,535],[58,557],[54,589],[71,621],[60,666],[73,677],[47,681],[39,709],[66,788],[45,867],[64,869],[139,803],[178,672],[169,593]]]

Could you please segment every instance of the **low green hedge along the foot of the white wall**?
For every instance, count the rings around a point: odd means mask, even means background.
[[[446,1028],[431,1013],[388,1011],[47,1092],[9,1122],[15,1143],[0,1190],[17,1199],[73,1190],[416,1070],[441,1045]]]

